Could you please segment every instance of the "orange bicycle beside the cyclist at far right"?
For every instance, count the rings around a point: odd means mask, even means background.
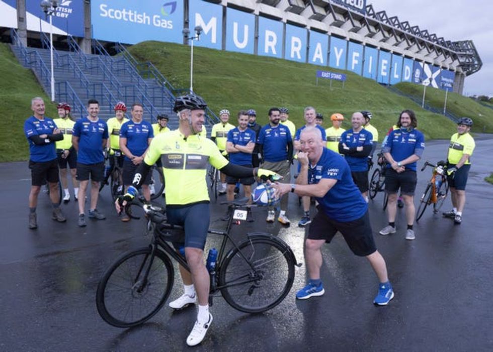
[[[447,162],[442,160],[434,165],[426,161],[425,165],[421,168],[421,171],[424,171],[427,166],[433,167],[433,172],[430,182],[428,182],[425,192],[420,198],[420,205],[416,212],[416,221],[421,219],[426,207],[430,204],[433,204],[433,213],[438,213],[443,202],[447,198],[449,191],[449,184],[447,182]]]

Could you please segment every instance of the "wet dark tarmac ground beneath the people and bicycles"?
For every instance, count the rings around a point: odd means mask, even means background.
[[[446,157],[448,142],[432,141],[425,160]],[[416,241],[404,240],[405,217],[398,210],[397,233],[380,236],[386,225],[383,194],[370,201],[370,216],[379,251],[387,261],[395,298],[375,307],[377,279],[365,259],[352,255],[342,237],[323,247],[322,280],[325,295],[296,301],[294,294],[306,279],[296,269],[293,288],[274,309],[259,315],[238,312],[222,297],[214,298],[214,321],[196,350],[493,350],[493,185],[483,179],[493,171],[493,139],[476,142],[467,184],[461,225],[427,209],[415,225]],[[103,221],[88,219],[76,225],[76,204],[62,208],[66,223],[51,220],[49,199],[41,194],[38,229],[27,228],[30,173],[27,162],[0,164],[0,350],[5,351],[171,351],[192,349],[185,339],[195,310],[173,312],[163,307],[147,323],[119,329],[98,315],[95,292],[105,269],[124,251],[146,246],[143,220],[121,222],[112,210],[108,189],[99,209]],[[417,197],[431,170],[418,173]],[[415,200],[415,204],[417,201]],[[211,204],[211,227],[224,206]],[[443,210],[450,208],[450,198]],[[257,221],[236,226],[235,238],[249,230],[277,234],[304,263],[305,230],[296,226],[302,209],[290,195],[291,227],[265,222],[265,210],[255,209]],[[210,237],[208,247],[219,239]],[[172,298],[181,294],[177,277]]]

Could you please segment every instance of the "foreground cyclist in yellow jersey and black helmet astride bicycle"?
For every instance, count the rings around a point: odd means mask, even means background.
[[[207,165],[210,163],[228,176],[237,178],[252,175],[279,178],[272,171],[229,163],[214,142],[199,136],[206,107],[206,102],[194,93],[176,98],[174,110],[178,113],[179,129],[152,140],[144,162],[135,173],[133,185],[128,188],[121,203],[125,205],[138,194],[137,187],[147,176],[151,165],[161,158],[166,183],[171,185],[166,192],[167,221],[185,228],[185,242],[173,245],[177,250],[185,247],[185,257],[190,267],[190,273],[180,267],[185,292],[170,306],[181,309],[198,302],[197,320],[187,338],[190,346],[202,341],[212,322],[208,305],[209,274],[203,258],[210,221]],[[121,210],[120,201],[115,202],[117,211]]]

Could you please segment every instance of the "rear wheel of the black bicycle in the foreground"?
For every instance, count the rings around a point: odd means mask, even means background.
[[[239,249],[239,250],[238,250]],[[255,238],[232,248],[219,273],[228,304],[245,313],[260,313],[278,305],[294,280],[294,260],[285,246],[270,238]]]

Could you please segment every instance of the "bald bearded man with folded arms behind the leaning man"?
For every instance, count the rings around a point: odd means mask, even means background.
[[[351,169],[354,183],[368,203],[368,156],[373,148],[373,135],[363,128],[365,118],[361,112],[353,113],[351,130],[341,135],[339,153],[343,154]]]

